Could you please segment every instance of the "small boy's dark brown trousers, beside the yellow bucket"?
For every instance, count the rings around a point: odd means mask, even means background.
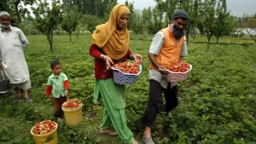
[[[62,118],[63,111],[61,109],[62,103],[67,101],[67,96],[60,96],[60,98],[53,98],[55,103],[55,118]]]

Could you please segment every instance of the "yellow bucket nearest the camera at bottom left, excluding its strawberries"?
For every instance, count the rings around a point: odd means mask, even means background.
[[[58,143],[58,134],[57,134],[58,124],[55,123],[55,125],[56,125],[55,130],[50,131],[49,133],[44,135],[35,135],[32,131],[35,128],[35,126],[33,126],[30,132],[31,132],[31,135],[33,136],[35,143],[36,144],[41,144],[41,143],[57,144]]]

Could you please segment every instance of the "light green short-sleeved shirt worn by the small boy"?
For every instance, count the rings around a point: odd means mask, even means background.
[[[55,78],[55,74],[49,76],[47,85],[52,86],[51,94],[55,98],[60,98],[60,96],[65,96],[64,81],[68,80],[67,75],[63,72],[58,78]]]

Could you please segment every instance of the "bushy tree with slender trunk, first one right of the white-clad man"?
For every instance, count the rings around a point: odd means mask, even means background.
[[[41,0],[39,2],[38,7],[32,7],[35,19],[32,19],[32,17],[31,19],[38,31],[47,37],[50,51],[53,52],[53,32],[62,20],[61,3],[54,0],[50,7],[46,0],[44,0],[44,3]]]

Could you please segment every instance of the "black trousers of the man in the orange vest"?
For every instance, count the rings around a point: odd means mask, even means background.
[[[162,92],[165,95],[166,105],[163,105]],[[167,89],[164,89],[159,82],[150,79],[148,107],[141,119],[142,123],[150,127],[159,112],[170,112],[173,108],[177,107],[177,104],[177,85],[171,89],[171,83],[169,83]]]

